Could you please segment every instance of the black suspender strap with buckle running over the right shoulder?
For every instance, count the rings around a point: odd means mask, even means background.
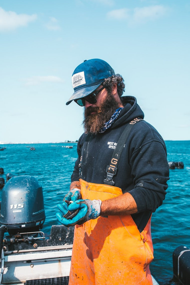
[[[106,177],[106,179],[104,179],[104,184],[111,185],[111,186],[113,186],[115,184],[115,182],[113,181],[113,178],[117,172],[117,166],[119,163],[119,159],[120,159],[122,150],[124,148],[124,145],[126,143],[126,140],[128,138],[128,135],[129,135],[132,127],[134,126],[134,124],[138,123],[141,120],[142,120],[141,118],[133,119],[129,124],[127,124],[126,128],[122,132],[122,134],[118,140],[118,143],[115,147],[115,150],[113,152],[110,164],[107,165],[107,168],[106,168],[107,177]]]

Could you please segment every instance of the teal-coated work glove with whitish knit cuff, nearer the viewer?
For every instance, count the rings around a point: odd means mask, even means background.
[[[66,203],[58,204],[57,207],[63,215],[65,215],[68,210],[74,211],[79,209],[79,212],[72,219],[66,219],[60,213],[56,213],[56,218],[66,227],[82,225],[86,221],[99,217],[101,203],[101,200],[77,200],[71,203],[67,208],[65,207]]]

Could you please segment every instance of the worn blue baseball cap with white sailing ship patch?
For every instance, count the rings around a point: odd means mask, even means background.
[[[69,105],[75,99],[89,95],[104,82],[105,78],[112,75],[115,75],[115,72],[106,61],[98,58],[84,60],[73,72],[72,85],[74,93],[66,105]]]

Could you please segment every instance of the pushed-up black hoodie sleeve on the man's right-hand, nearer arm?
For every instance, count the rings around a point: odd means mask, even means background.
[[[150,126],[145,128],[144,138],[139,139],[141,145],[137,144],[130,158],[131,176],[135,186],[129,193],[136,201],[138,213],[146,210],[155,212],[162,205],[169,179],[165,143],[153,127],[150,136],[148,128]]]

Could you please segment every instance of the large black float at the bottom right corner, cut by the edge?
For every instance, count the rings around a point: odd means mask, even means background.
[[[183,285],[190,284],[190,248],[180,245],[173,252],[173,274]]]

